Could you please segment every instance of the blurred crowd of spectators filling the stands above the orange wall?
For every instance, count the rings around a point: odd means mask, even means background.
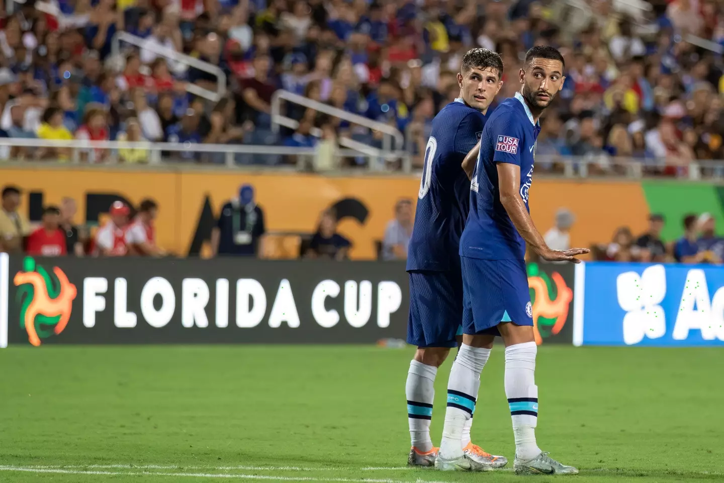
[[[693,159],[724,159],[720,56],[682,41],[691,33],[724,44],[724,2],[652,0],[648,18],[634,21],[616,12],[613,0],[594,0],[594,15],[578,32],[557,26],[557,3],[10,1],[12,13],[0,21],[0,136],[317,145],[328,157],[340,137],[382,146],[377,131],[295,104],[285,114],[298,128],[274,133],[271,96],[283,88],[396,127],[419,166],[432,117],[457,96],[455,72],[467,49],[500,52],[504,98],[518,89],[521,54],[548,43],[565,54],[568,76],[542,123],[539,169],[573,155],[610,171],[614,156],[623,156],[643,160],[651,172],[685,175]],[[122,44],[114,57],[112,39],[121,31],[143,38],[143,47]],[[212,104],[190,94],[190,84],[215,91],[216,77],[157,56],[159,47],[221,67],[227,96]],[[10,156],[67,160],[69,152],[0,151]],[[177,156],[223,161],[192,151]],[[149,151],[122,149],[118,157],[146,162]],[[81,161],[107,158],[88,150]]]

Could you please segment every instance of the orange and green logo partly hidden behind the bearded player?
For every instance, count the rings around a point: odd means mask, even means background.
[[[556,335],[568,319],[568,308],[573,300],[573,290],[565,285],[558,272],[549,275],[538,264],[528,264],[528,287],[533,303],[533,327],[536,344]]]

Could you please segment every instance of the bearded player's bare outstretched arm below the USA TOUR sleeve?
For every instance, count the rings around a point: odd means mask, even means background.
[[[547,261],[572,261],[574,264],[581,263],[576,256],[589,253],[588,248],[571,248],[571,250],[551,250],[545,243],[540,232],[533,224],[533,219],[526,209],[526,203],[521,198],[521,167],[517,164],[498,163],[498,183],[500,186],[500,203],[508,213],[510,221],[513,222],[515,230],[521,234],[523,240],[542,259]]]

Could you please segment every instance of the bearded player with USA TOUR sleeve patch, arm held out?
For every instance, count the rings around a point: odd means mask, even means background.
[[[483,130],[471,180],[470,213],[460,238],[463,345],[452,364],[447,410],[435,467],[484,471],[460,450],[495,335],[505,343],[505,395],[515,435],[517,474],[576,474],[536,445],[536,343],[526,275],[526,243],[549,261],[572,261],[589,251],[551,250],[531,220],[528,199],[539,118],[563,88],[563,56],[550,46],[526,54],[521,91],[495,109]]]

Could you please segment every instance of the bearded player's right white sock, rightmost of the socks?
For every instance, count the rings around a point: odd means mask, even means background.
[[[529,461],[541,453],[536,445],[538,424],[538,386],[534,342],[505,348],[505,397],[510,406],[515,434],[515,458]]]

